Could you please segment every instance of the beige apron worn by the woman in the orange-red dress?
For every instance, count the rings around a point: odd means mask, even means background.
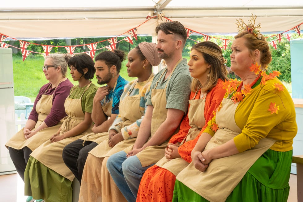
[[[203,126],[205,125],[205,99],[192,99],[189,100],[189,103],[190,108],[188,110],[188,118],[191,128],[189,129],[188,134],[186,135],[185,142],[194,140],[200,133],[201,128],[203,128]],[[181,144],[183,144],[183,142]],[[189,163],[181,157],[172,160],[168,160],[166,157],[163,157],[160,161],[156,163],[156,165],[161,168],[165,168],[166,170],[169,170],[174,175],[177,175],[181,170],[186,168]]]

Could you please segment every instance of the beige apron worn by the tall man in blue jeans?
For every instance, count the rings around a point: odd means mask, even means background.
[[[181,61],[181,60],[180,60]],[[180,62],[179,61],[179,62]],[[165,121],[167,117],[167,109],[166,109],[166,87],[169,83],[170,77],[173,75],[173,72],[177,65],[179,64],[177,62],[176,66],[173,68],[172,73],[170,74],[167,83],[165,85],[164,89],[156,89],[159,81],[161,80],[162,76],[166,73],[167,69],[163,71],[162,75],[160,76],[159,80],[157,81],[155,88],[152,89],[152,96],[151,101],[152,105],[154,107],[154,110],[152,111],[152,125],[151,125],[151,137],[155,134],[159,126]],[[172,134],[176,134],[179,131],[179,128],[176,129],[176,131]],[[170,139],[170,137],[169,137]],[[136,156],[138,157],[139,161],[141,162],[142,167],[152,165],[159,161],[162,157],[164,157],[164,151],[167,147],[168,140],[164,141],[159,146],[149,146],[144,148],[141,152],[137,153]],[[131,145],[130,147],[124,149],[126,153],[132,150],[134,145]]]

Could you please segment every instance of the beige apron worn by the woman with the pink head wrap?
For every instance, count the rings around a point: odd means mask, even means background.
[[[152,76],[150,78],[152,78]],[[149,81],[147,81],[147,83],[148,82]],[[134,89],[136,84],[137,81],[135,81],[134,84],[130,87],[130,91],[128,95]],[[126,96],[123,100],[120,100],[119,113],[123,121],[122,123],[119,123],[121,124],[120,126],[121,129],[125,126],[129,126],[130,124],[136,122],[144,115],[140,111],[140,99],[141,99],[140,96],[139,97]],[[106,140],[98,144],[98,146],[93,148],[89,153],[99,158],[109,157],[114,153],[120,152],[123,149],[133,145],[136,139],[137,138],[130,138],[128,140],[123,140],[118,144],[116,144],[113,148],[111,148],[108,145],[109,138],[106,138]]]

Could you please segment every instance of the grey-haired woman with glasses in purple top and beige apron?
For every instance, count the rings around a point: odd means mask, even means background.
[[[45,58],[42,70],[49,83],[40,88],[24,128],[5,144],[23,181],[29,155],[58,131],[60,120],[66,116],[64,101],[73,87],[66,78],[70,57],[56,53]]]

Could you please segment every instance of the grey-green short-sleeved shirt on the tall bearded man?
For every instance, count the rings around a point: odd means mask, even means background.
[[[155,88],[157,81],[162,75],[165,69],[161,70],[158,74],[155,75],[154,80],[152,81],[151,89]],[[164,75],[160,79],[156,89],[164,89],[169,77],[164,80]],[[177,65],[175,71],[169,79],[169,83],[166,87],[166,109],[177,109],[187,112],[188,100],[190,95],[190,84],[192,77],[188,71],[187,60],[183,59]],[[146,105],[152,105],[151,94],[149,93],[147,97]]]

